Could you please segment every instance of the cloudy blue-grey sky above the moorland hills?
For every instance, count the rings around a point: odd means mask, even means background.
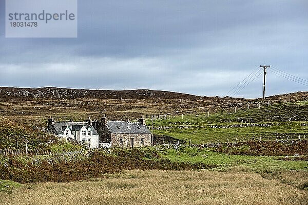
[[[5,38],[0,0],[0,86],[225,96],[269,64],[266,95],[304,91],[307,11],[306,0],[80,0],[78,38]],[[261,72],[228,95],[261,97]]]

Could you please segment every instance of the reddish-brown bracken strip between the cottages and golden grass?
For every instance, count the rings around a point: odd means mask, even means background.
[[[123,169],[191,170],[217,167],[204,163],[171,162],[159,158],[157,151],[151,149],[114,149],[112,152],[114,155],[96,151],[88,158],[81,157],[80,161],[50,158],[42,160],[40,164],[33,164],[30,161],[24,164],[15,158],[10,158],[8,167],[0,166],[0,179],[19,183],[64,182],[105,177],[105,173],[119,172]]]

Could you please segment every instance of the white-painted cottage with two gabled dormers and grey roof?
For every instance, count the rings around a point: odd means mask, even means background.
[[[88,143],[91,149],[99,148],[99,134],[91,124],[90,118],[87,122],[55,122],[50,117],[45,131],[66,140],[73,139]]]

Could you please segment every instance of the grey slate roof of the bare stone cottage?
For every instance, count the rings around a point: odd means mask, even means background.
[[[111,133],[125,134],[150,134],[146,125],[141,123],[132,123],[127,121],[107,121],[107,128]]]

